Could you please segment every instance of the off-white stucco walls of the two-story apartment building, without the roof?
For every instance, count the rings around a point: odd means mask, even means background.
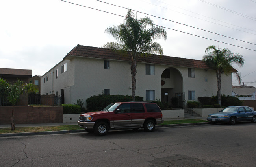
[[[131,95],[130,62],[109,60],[110,68],[104,69],[104,59],[89,57],[68,57],[59,62],[43,77],[41,77],[41,94],[60,94],[64,90],[65,103],[74,104],[78,99],[85,100],[93,95],[102,94],[104,89],[109,89],[111,95]],[[61,73],[61,66],[67,63],[67,71]],[[169,100],[175,97],[176,92],[185,92],[188,101],[188,91],[195,91],[197,97],[216,95],[217,78],[215,70],[195,69],[195,78],[188,77],[187,67],[166,66],[154,64],[155,74],[146,75],[145,63],[137,62],[136,95],[146,99],[146,90],[155,90],[155,98],[161,99],[161,88],[169,93]],[[56,69],[59,77],[56,79]],[[170,78],[161,78],[163,71],[170,69]],[[52,73],[53,72],[53,73]],[[51,74],[50,74],[51,73]],[[49,75],[49,80],[43,83],[43,78]],[[207,82],[205,82],[207,77]],[[165,85],[161,86],[161,79]],[[221,94],[231,95],[232,77],[222,75]],[[50,93],[51,92],[51,93]],[[162,92],[163,93],[163,92]]]

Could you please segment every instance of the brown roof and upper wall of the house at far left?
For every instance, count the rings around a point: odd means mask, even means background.
[[[29,83],[32,77],[32,70],[13,69],[13,68],[0,68],[0,78],[6,79],[10,83],[15,83],[18,79],[24,83]]]

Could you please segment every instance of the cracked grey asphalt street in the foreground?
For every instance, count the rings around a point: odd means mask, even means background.
[[[0,138],[1,167],[255,167],[256,124]]]

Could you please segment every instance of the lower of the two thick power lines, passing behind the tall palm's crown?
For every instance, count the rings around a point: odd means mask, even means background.
[[[102,10],[100,10],[100,9],[95,9],[95,8],[88,7],[88,6],[83,6],[83,5],[80,5],[80,4],[75,4],[75,3],[68,2],[68,1],[65,1],[65,0],[60,0],[60,1],[67,2],[67,3],[70,3],[70,4],[74,4],[74,5],[78,5],[78,6],[82,6],[82,7],[87,7],[87,8],[89,8],[89,9],[94,9],[94,10],[97,10],[97,11],[102,11]],[[102,11],[102,12],[105,12],[105,13],[109,13],[109,14],[112,14],[112,15],[116,15],[116,16],[120,16],[120,17],[126,18],[125,16],[118,15],[118,14],[115,14],[115,13],[111,13],[111,12],[107,12],[107,11]],[[186,32],[184,32],[184,31],[179,31],[179,30],[176,30],[176,29],[168,28],[168,27],[165,27],[165,26],[160,26],[160,25],[157,25],[157,24],[153,24],[153,25],[154,25],[154,26],[159,26],[159,27],[162,27],[162,28],[166,28],[166,29],[171,29],[171,30],[173,30],[173,31],[178,31],[178,32],[181,32],[181,33],[186,33]],[[231,46],[236,46],[236,47],[243,48],[243,49],[247,49],[247,50],[256,51],[256,50],[253,50],[253,49],[245,48],[245,47],[242,47],[242,46],[237,46],[237,45],[234,45],[234,44],[229,44],[229,43],[226,43],[226,42],[221,42],[221,41],[219,41],[219,40],[214,40],[214,39],[202,37],[202,36],[195,35],[195,34],[191,34],[191,33],[186,33],[186,34],[193,35],[193,36],[195,36],[195,37],[200,37],[200,38],[203,38],[203,39],[213,40],[213,41],[215,41],[215,42],[220,42],[220,43],[228,44],[228,45],[231,45]]]

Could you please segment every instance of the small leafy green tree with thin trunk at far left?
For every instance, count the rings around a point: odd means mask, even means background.
[[[1,81],[1,83],[5,83],[4,81]],[[14,124],[14,106],[19,101],[20,95],[25,94],[26,92],[35,92],[36,87],[32,83],[24,83],[23,81],[16,81],[14,84],[6,84],[6,93],[7,93],[7,99],[12,105],[12,113],[11,113],[11,130],[15,130],[15,124]]]

